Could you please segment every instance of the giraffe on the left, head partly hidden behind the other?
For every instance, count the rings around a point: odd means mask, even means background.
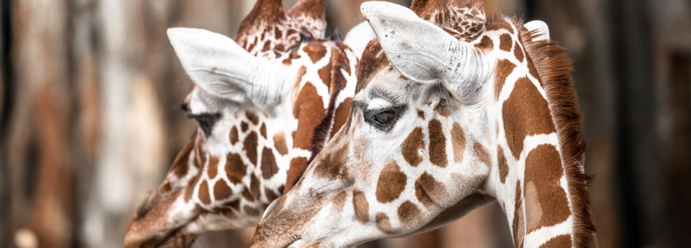
[[[292,187],[354,94],[359,54],[325,37],[324,12],[325,0],[287,11],[281,0],[258,0],[234,39],[168,30],[195,83],[182,108],[198,128],[140,205],[126,247],[187,246],[206,231],[256,225]]]

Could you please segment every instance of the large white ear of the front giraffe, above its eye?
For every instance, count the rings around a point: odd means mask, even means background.
[[[420,83],[444,82],[461,100],[475,93],[491,68],[484,52],[394,3],[369,1],[361,12],[377,34],[388,60]]]

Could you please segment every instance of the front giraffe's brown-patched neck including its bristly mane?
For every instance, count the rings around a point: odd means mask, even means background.
[[[569,59],[556,43],[533,42],[527,32],[511,40],[522,40],[510,52],[521,56],[500,60],[489,93],[498,117],[486,184],[507,214],[516,247],[592,247]]]

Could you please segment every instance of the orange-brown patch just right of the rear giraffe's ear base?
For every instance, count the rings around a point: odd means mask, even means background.
[[[325,116],[324,104],[312,83],[306,83],[293,108],[293,116],[298,119],[298,127],[294,136],[293,147],[310,150],[314,127],[319,125]]]

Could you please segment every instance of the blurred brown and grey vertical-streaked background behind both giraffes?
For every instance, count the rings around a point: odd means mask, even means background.
[[[166,28],[232,37],[254,1],[0,0],[0,246],[121,247],[135,207],[196,128],[176,107],[192,83]],[[361,21],[361,2],[328,0],[330,30]],[[488,16],[546,21],[571,54],[600,247],[691,245],[690,1],[485,4]],[[251,233],[210,234],[196,247],[247,247]],[[489,205],[363,247],[511,238]]]

